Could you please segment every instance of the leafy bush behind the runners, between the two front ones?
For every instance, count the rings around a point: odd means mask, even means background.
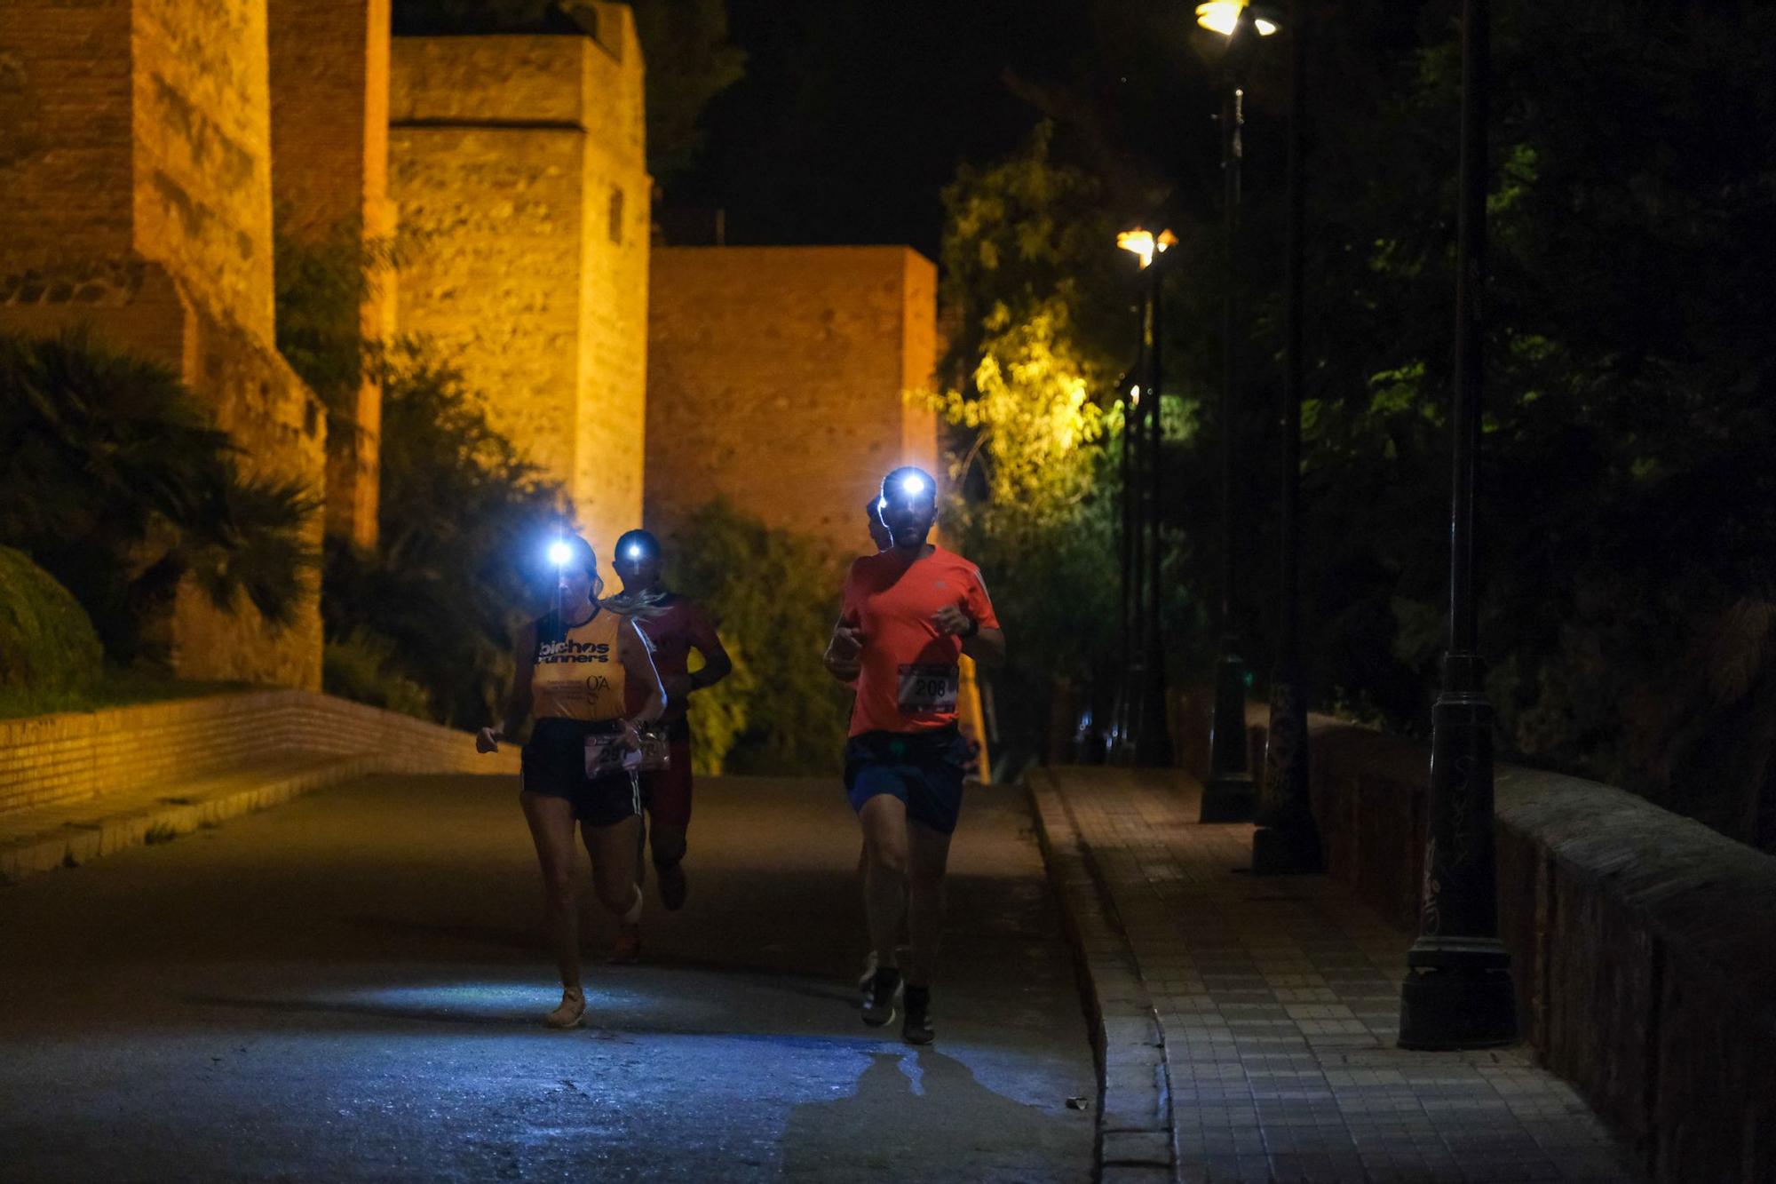
[[[737,732],[730,773],[835,773],[851,695],[821,665],[844,572],[810,539],[712,501],[668,540],[673,588],[698,601],[735,656],[735,672],[691,709],[712,752]]]

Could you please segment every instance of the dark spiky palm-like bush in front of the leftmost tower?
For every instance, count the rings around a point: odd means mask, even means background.
[[[316,562],[298,482],[247,476],[227,434],[160,363],[83,331],[0,334],[0,542],[53,574],[119,663],[160,658],[146,626],[186,576],[270,626]]]

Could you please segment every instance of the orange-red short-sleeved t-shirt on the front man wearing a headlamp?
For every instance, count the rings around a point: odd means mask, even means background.
[[[906,562],[897,551],[865,555],[845,576],[840,617],[863,629],[851,734],[927,732],[955,722],[963,638],[938,633],[931,615],[955,604],[996,629],[980,569],[954,551]]]

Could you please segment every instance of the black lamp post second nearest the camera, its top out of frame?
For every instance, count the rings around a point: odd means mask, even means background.
[[[1314,823],[1307,786],[1307,690],[1300,652],[1300,551],[1302,551],[1302,142],[1305,100],[1302,69],[1307,59],[1307,27],[1300,0],[1289,0],[1289,142],[1288,219],[1282,268],[1282,491],[1279,535],[1282,544],[1277,665],[1270,676],[1270,729],[1265,743],[1265,779],[1252,832],[1254,873],[1320,871],[1320,827]]]

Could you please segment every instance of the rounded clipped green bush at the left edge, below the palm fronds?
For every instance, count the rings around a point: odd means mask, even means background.
[[[28,555],[0,546],[0,688],[83,692],[98,681],[103,660],[80,601]]]

